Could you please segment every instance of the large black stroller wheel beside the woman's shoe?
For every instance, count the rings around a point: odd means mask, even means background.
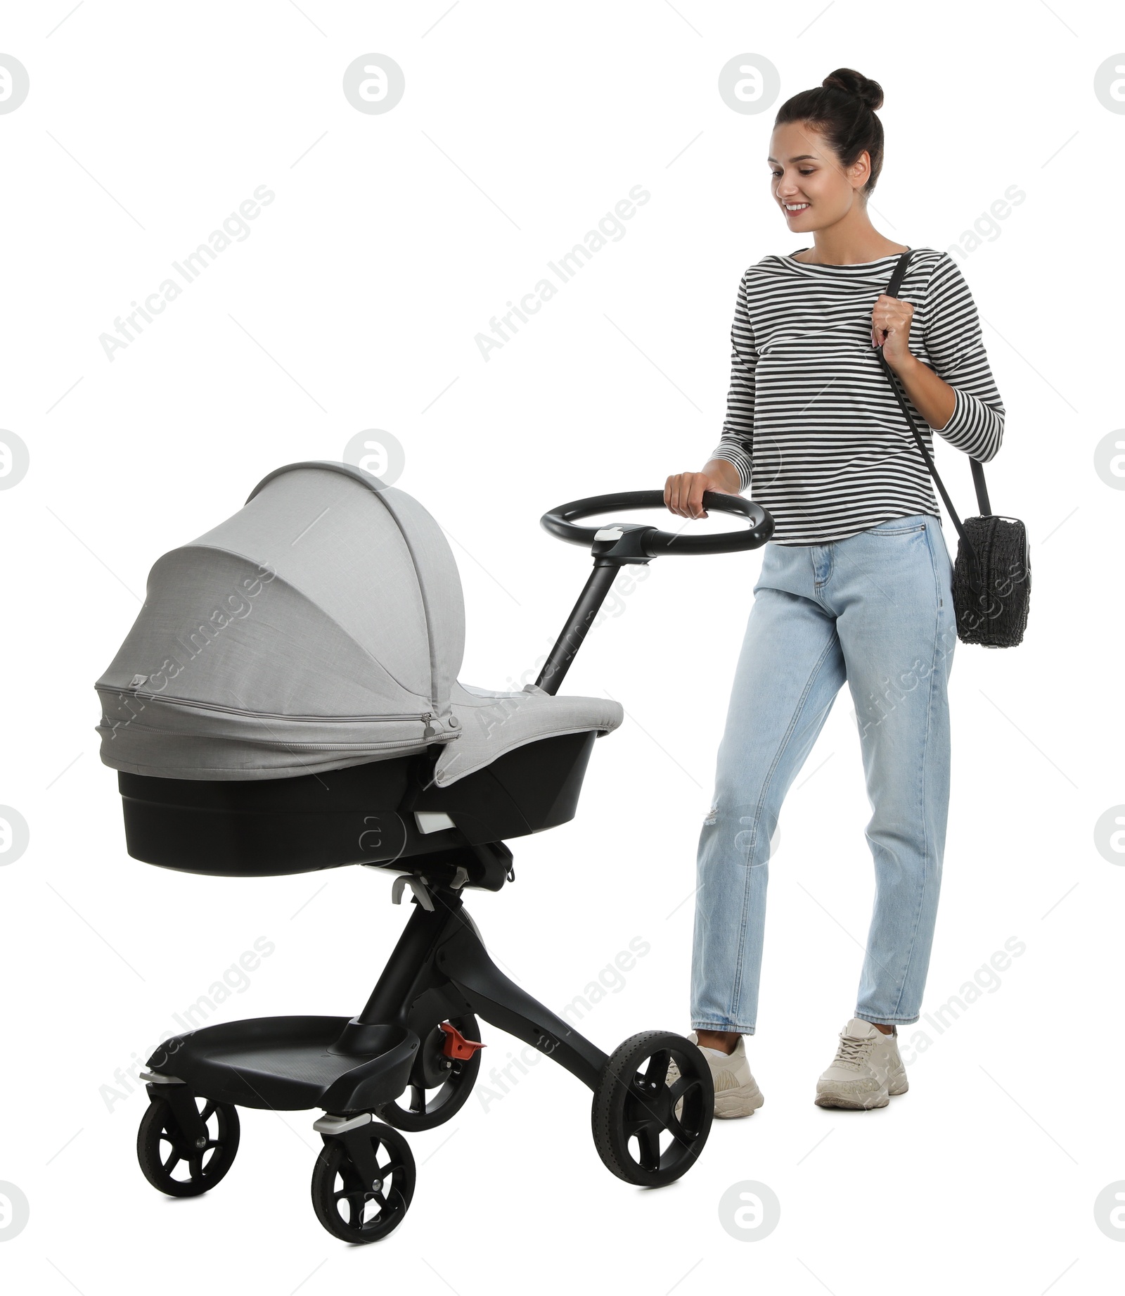
[[[669,1087],[671,1058],[680,1078]],[[590,1124],[598,1155],[619,1179],[659,1188],[691,1169],[713,1116],[715,1085],[703,1054],[671,1030],[642,1030],[610,1054],[594,1090]],[[671,1138],[662,1147],[665,1131]]]

